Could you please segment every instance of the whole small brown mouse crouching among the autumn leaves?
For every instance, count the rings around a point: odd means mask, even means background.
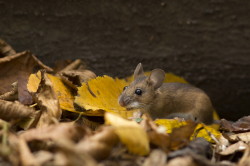
[[[124,87],[118,101],[122,107],[139,109],[153,119],[184,118],[206,124],[213,122],[213,106],[207,94],[185,83],[163,83],[165,72],[154,69],[147,77],[142,64],[134,71],[134,81]]]

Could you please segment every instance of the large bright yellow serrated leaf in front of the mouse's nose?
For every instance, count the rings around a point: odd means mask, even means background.
[[[78,96],[75,97],[75,103],[93,112],[104,110],[119,114],[125,118],[131,117],[133,111],[127,111],[118,103],[118,97],[126,85],[125,80],[118,78],[113,79],[106,75],[103,77],[99,76],[88,81],[88,83],[83,83],[82,86],[78,88]]]

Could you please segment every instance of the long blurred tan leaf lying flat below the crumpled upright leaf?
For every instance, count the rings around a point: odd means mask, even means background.
[[[79,140],[84,135],[88,135],[88,131],[83,126],[74,125],[73,123],[59,123],[42,128],[33,128],[20,134],[25,141],[61,141],[61,140]]]

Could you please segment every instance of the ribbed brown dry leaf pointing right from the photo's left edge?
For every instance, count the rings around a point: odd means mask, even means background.
[[[19,102],[0,100],[0,118],[4,120],[33,117],[35,110]]]

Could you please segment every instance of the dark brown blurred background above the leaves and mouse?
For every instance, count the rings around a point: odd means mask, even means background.
[[[50,66],[82,58],[98,75],[162,68],[236,120],[250,111],[249,14],[248,0],[0,0],[0,38]]]

